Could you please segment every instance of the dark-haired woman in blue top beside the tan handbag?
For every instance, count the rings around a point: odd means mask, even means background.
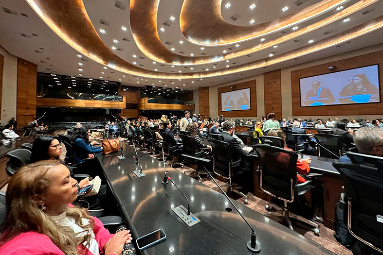
[[[91,130],[85,127],[80,127],[74,130],[74,149],[77,156],[77,163],[84,162],[84,159],[89,158],[90,154],[102,152],[102,147],[92,146],[97,142],[90,142],[90,135]]]

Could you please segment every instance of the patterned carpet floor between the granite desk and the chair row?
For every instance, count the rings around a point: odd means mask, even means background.
[[[159,156],[159,154],[154,154],[154,155],[148,154],[148,155],[150,155],[152,157],[158,157]],[[168,164],[169,167],[170,167],[170,163],[171,163],[171,161],[166,161],[166,164]],[[189,168],[187,166],[184,166],[183,169],[181,167],[175,167],[175,169],[179,170],[182,173],[186,170],[192,170],[191,168]],[[191,175],[191,177],[193,177],[193,175],[194,175],[194,173],[192,173],[192,172],[186,172],[186,174]],[[206,185],[207,187],[213,188],[216,186],[215,183],[210,178],[207,178],[206,176],[201,176],[201,178],[202,178],[201,183]],[[219,183],[219,185],[224,184],[223,182],[220,182],[218,180],[217,180],[217,182]],[[217,189],[218,188],[215,188],[215,190],[217,190]],[[220,192],[219,189],[217,192]],[[244,202],[245,202],[244,198],[242,198],[241,196],[236,196],[236,195],[237,194],[234,193],[234,195],[230,196],[230,198],[244,204]],[[236,197],[234,197],[234,196],[236,196]],[[264,201],[258,197],[255,197],[250,192],[247,194],[247,197],[248,197],[248,204],[246,204],[246,206],[248,206],[249,208],[251,208],[251,209],[253,209],[259,213],[267,212],[265,209],[265,205],[267,204],[266,201]],[[272,217],[270,217],[270,219],[273,219],[274,221],[278,221],[281,224],[287,225],[283,220],[280,220],[278,217],[272,216]],[[293,220],[292,220],[292,223],[293,223],[294,230],[296,232],[300,233],[301,235],[303,235],[307,238],[310,238],[311,240],[320,244],[322,247],[328,249],[329,251],[331,251],[335,254],[338,254],[338,255],[352,255],[352,252],[350,250],[348,250],[342,244],[338,243],[337,240],[334,238],[335,232],[333,230],[325,227],[323,224],[318,223],[319,229],[320,229],[320,236],[317,237],[314,235],[314,232],[310,229],[310,227],[307,226],[306,224],[296,222]]]

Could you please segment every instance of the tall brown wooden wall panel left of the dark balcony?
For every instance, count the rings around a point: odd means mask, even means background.
[[[36,117],[37,65],[18,58],[17,121],[20,127]]]

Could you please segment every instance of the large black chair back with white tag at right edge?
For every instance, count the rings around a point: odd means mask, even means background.
[[[360,164],[333,163],[342,176],[347,228],[352,236],[383,253],[383,171]],[[368,253],[369,254],[369,253]]]

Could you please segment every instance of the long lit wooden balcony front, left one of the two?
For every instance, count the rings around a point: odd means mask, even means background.
[[[122,102],[81,100],[81,99],[60,99],[60,98],[37,98],[37,106],[55,107],[77,107],[77,108],[110,108],[124,109],[126,107],[126,97],[123,96]]]

